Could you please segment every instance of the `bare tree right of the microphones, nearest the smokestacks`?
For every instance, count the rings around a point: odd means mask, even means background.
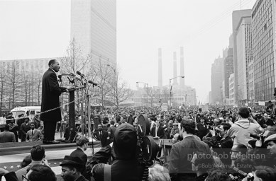
[[[116,105],[117,110],[123,101],[127,100],[133,95],[133,91],[131,91],[130,88],[127,88],[127,83],[124,81],[120,81],[118,78],[118,71],[114,69],[114,78],[112,78],[112,81],[110,82],[111,85],[111,102]]]

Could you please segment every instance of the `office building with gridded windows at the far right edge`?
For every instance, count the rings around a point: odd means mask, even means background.
[[[252,9],[253,68],[252,65],[251,68],[254,69],[254,98],[257,102],[274,100],[275,23],[275,1],[256,1]]]

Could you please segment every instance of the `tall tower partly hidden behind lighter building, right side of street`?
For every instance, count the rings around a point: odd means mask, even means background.
[[[232,30],[233,30],[233,64],[234,64],[234,88],[235,88],[235,103],[238,104],[238,47],[237,34],[239,25],[243,17],[251,16],[251,9],[233,11],[232,13]],[[245,84],[246,85],[246,84]],[[241,94],[240,94],[241,95]]]

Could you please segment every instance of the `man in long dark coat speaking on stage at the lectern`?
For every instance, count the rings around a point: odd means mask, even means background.
[[[42,100],[40,119],[44,123],[44,144],[58,144],[55,141],[55,127],[61,118],[60,112],[60,94],[67,92],[67,88],[59,86],[57,75],[55,74],[60,70],[60,64],[56,59],[51,59],[48,63],[49,69],[44,73],[42,78]],[[57,108],[56,108],[57,107]],[[56,108],[56,109],[54,109]],[[54,110],[52,110],[54,109]],[[49,112],[45,112],[51,110]]]

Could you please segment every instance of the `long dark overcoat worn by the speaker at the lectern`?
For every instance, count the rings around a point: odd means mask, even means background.
[[[60,107],[60,94],[65,90],[66,88],[59,86],[57,75],[52,69],[45,71],[42,78],[41,112]],[[60,108],[41,114],[40,119],[44,122],[60,121],[62,119]]]

